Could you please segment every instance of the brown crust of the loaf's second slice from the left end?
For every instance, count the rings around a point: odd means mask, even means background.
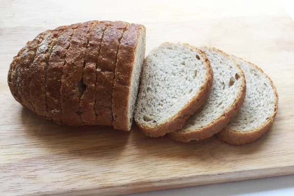
[[[51,32],[51,30],[40,33],[33,41],[31,41],[26,50],[23,52],[19,64],[16,69],[16,84],[18,88],[19,97],[21,102],[28,109],[34,112],[34,107],[31,103],[29,94],[29,84],[31,80],[30,67],[34,61],[36,51],[43,39]]]

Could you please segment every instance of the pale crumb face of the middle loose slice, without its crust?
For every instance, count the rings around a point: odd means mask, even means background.
[[[212,89],[204,105],[177,132],[197,131],[214,123],[232,107],[243,89],[242,71],[230,57],[217,49],[200,49],[205,52],[214,72]]]

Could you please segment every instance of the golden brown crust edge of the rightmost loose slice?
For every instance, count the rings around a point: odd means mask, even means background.
[[[235,57],[237,57],[237,56],[235,56]],[[240,57],[237,57],[237,58],[240,58]],[[240,58],[240,59],[245,61],[243,58]],[[256,69],[258,69],[259,71],[264,73],[262,69],[260,69],[259,67],[257,67],[253,63],[250,63],[248,61],[245,61],[245,62],[249,63],[250,65],[252,65]],[[266,75],[266,77],[268,77],[270,79],[270,77],[266,73],[264,73],[264,74]],[[274,118],[275,118],[275,116],[276,116],[276,114],[278,112],[278,100],[279,100],[277,89],[273,85],[273,82],[272,82],[271,79],[270,79],[270,84],[271,84],[271,87],[274,90],[274,93],[275,93],[275,96],[276,96],[276,102],[275,102],[275,107],[274,107],[274,113],[269,118],[269,121],[262,124],[259,128],[255,129],[253,131],[250,131],[250,132],[236,132],[236,131],[234,131],[232,129],[229,129],[229,128],[225,127],[224,129],[222,129],[217,134],[217,138],[219,140],[227,142],[229,144],[244,145],[244,144],[254,142],[255,140],[259,139],[261,136],[263,136],[268,130],[270,130],[270,127],[271,127],[271,125],[273,123],[273,120],[274,120]]]

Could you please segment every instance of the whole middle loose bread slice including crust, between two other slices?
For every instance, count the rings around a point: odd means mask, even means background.
[[[169,134],[176,141],[203,140],[218,133],[234,118],[245,98],[245,75],[240,66],[219,49],[200,49],[214,72],[212,89],[204,105],[184,127]]]

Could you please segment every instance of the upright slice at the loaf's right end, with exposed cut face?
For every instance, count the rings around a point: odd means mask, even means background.
[[[146,28],[131,24],[123,34],[112,93],[113,126],[129,131],[133,123],[140,75],[145,58]]]

